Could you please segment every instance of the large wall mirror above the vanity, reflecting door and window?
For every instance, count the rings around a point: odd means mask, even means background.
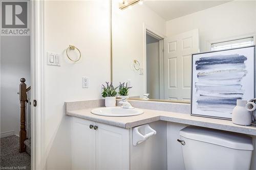
[[[191,54],[254,44],[255,9],[255,1],[112,0],[113,83],[128,82],[130,98],[189,103]]]

